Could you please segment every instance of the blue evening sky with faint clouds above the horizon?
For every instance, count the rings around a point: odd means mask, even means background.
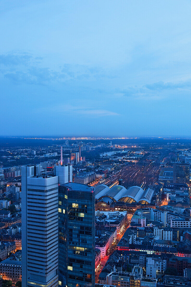
[[[0,1],[0,135],[191,135],[191,1]]]

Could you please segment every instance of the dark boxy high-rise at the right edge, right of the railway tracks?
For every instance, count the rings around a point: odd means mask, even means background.
[[[190,183],[190,164],[189,163],[174,163],[173,168],[174,183]]]

